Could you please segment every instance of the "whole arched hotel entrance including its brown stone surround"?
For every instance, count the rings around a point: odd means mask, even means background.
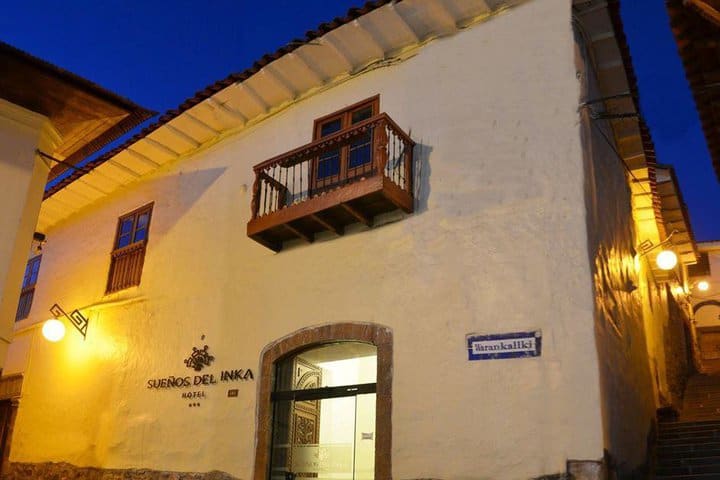
[[[392,330],[307,327],[265,347],[253,480],[392,476]]]

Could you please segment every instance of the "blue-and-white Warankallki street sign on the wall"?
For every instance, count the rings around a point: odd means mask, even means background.
[[[468,360],[539,357],[541,346],[540,330],[467,336]]]

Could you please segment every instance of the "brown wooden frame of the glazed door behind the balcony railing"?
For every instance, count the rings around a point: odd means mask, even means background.
[[[375,115],[378,115],[380,113],[380,95],[375,95],[370,98],[366,98],[365,100],[362,100],[360,102],[354,103],[348,107],[345,107],[343,109],[340,109],[336,112],[333,112],[329,115],[325,115],[323,117],[315,119],[313,123],[313,141],[319,140],[322,138],[320,136],[321,128],[324,124],[331,122],[333,120],[339,119],[340,120],[340,130],[346,130],[352,126],[352,114],[355,113],[358,110],[362,110],[364,108],[371,107],[371,113],[370,116],[374,117]],[[372,152],[372,142],[374,139],[370,139],[370,151]],[[320,165],[320,158],[314,158],[312,160],[311,164],[311,171],[310,171],[310,189],[311,191],[317,192],[322,191],[323,189],[333,187],[337,185],[338,183],[342,182],[344,179],[347,179],[349,177],[354,177],[353,172],[350,172],[349,168],[349,155],[350,148],[349,146],[344,146],[340,148],[340,169],[338,171],[337,175],[332,175],[330,177],[323,177],[322,179],[318,178],[318,167]],[[370,161],[373,161],[372,153],[370,155]],[[359,170],[360,167],[355,167],[353,170]]]

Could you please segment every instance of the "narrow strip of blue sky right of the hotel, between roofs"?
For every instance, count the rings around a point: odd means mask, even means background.
[[[720,240],[720,183],[662,0],[623,1],[642,113],[659,163],[675,167],[698,241]]]

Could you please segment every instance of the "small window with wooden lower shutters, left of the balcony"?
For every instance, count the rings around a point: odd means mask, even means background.
[[[106,293],[140,285],[153,204],[118,219]]]

